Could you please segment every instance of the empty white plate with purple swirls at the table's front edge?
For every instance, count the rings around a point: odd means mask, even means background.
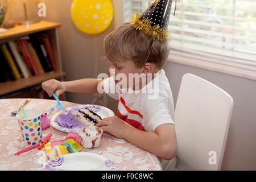
[[[115,170],[115,167],[114,163],[105,156],[78,152],[48,160],[39,170],[110,171]]]

